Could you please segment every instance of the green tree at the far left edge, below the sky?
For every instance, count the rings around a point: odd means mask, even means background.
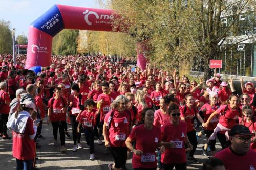
[[[10,21],[0,20],[0,53],[11,53],[12,32]]]

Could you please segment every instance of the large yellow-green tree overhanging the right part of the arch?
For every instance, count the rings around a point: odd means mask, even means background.
[[[161,65],[166,68],[189,69],[190,63],[200,59],[205,79],[212,75],[209,60],[220,54],[219,42],[228,41],[241,13],[255,10],[252,0],[112,0],[110,4],[120,16],[115,19],[116,27],[137,42],[148,42],[151,62],[164,63]],[[232,18],[220,32],[224,15]],[[229,42],[230,47],[236,43]]]

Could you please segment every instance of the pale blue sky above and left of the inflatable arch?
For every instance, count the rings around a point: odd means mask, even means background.
[[[99,8],[97,0],[0,0],[0,20],[10,21],[15,36],[28,36],[29,25],[55,4]]]

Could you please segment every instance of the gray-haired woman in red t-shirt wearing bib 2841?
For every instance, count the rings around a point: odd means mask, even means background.
[[[104,120],[103,135],[105,146],[110,147],[114,163],[109,164],[109,169],[122,169],[127,160],[127,147],[125,140],[131,130],[130,112],[126,110],[128,99],[119,95],[111,104]]]

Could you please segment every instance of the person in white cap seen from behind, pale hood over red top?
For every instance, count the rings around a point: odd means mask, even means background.
[[[31,114],[35,111],[32,101],[22,102],[7,123],[8,129],[12,130],[12,155],[16,158],[17,169],[32,169],[33,166],[38,124],[34,124]]]

